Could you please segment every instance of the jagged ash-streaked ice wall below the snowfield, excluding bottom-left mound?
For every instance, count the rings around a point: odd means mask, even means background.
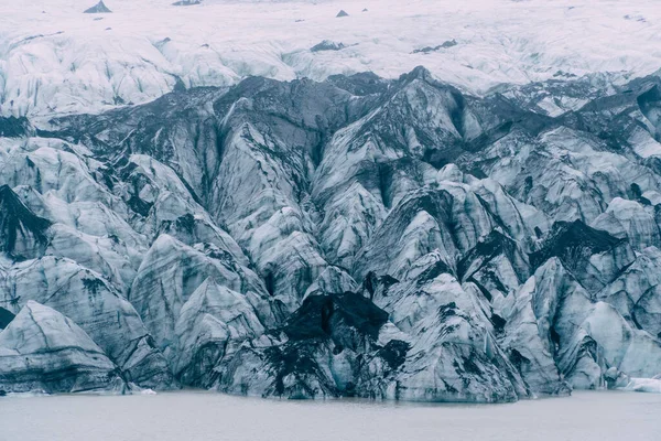
[[[257,396],[658,375],[661,79],[563,84],[552,109],[541,85],[478,97],[424,68],[252,77],[11,122],[0,327],[37,301],[123,381]]]

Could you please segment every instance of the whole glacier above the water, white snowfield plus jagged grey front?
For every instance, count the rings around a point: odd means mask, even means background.
[[[660,15],[3,2],[0,395],[658,391]]]

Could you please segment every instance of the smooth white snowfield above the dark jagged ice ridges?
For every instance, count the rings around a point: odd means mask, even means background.
[[[47,117],[138,104],[186,87],[424,65],[480,94],[554,74],[661,67],[657,0],[0,1],[0,115]],[[362,12],[364,9],[368,11]],[[349,17],[336,18],[339,10]],[[339,51],[311,52],[328,40]],[[447,41],[452,47],[436,47]]]

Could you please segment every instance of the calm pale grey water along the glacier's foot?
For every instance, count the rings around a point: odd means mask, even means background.
[[[0,440],[660,441],[661,395],[457,406],[278,401],[214,392],[0,398]]]

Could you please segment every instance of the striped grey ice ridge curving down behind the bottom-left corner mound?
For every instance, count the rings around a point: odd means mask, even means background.
[[[79,325],[129,381],[167,387],[172,375],[141,318],[107,280],[65,258],[46,256],[0,272],[0,301],[10,311],[34,300]]]

